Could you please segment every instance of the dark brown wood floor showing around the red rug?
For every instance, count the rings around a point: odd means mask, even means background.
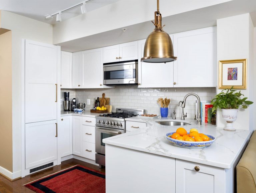
[[[0,193],[34,192],[34,191],[24,187],[23,184],[29,183],[33,180],[37,180],[39,178],[42,178],[44,176],[50,175],[52,173],[58,172],[60,170],[69,168],[69,167],[77,165],[77,164],[86,166],[86,167],[89,167],[89,168],[92,168],[92,169],[95,169],[95,170],[98,170],[101,172],[105,172],[105,168],[99,169],[99,167],[96,165],[86,163],[86,162],[83,162],[83,161],[73,158],[73,159],[69,159],[69,160],[61,162],[61,165],[56,165],[47,170],[25,176],[24,178],[21,178],[19,180],[13,181],[13,182],[11,182],[10,180],[8,180],[0,175]]]

